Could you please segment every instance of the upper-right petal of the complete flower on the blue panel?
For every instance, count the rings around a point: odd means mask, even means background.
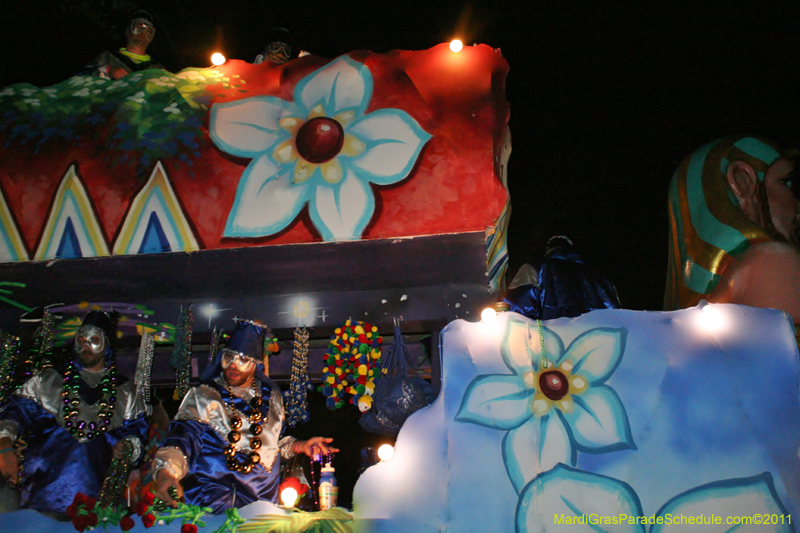
[[[586,377],[590,384],[603,383],[622,361],[625,350],[625,328],[594,328],[581,333],[570,343],[558,361],[570,359],[573,372]]]

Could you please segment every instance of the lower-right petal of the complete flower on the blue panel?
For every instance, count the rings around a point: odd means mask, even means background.
[[[606,385],[590,387],[573,395],[571,413],[563,413],[578,449],[592,453],[635,449],[625,406]]]

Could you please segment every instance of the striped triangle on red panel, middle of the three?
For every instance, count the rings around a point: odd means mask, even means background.
[[[64,255],[60,256],[59,251]],[[91,200],[75,172],[75,166],[71,165],[58,186],[33,258],[43,261],[108,255],[108,245],[92,210]]]

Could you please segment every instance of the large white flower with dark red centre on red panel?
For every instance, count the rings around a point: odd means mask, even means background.
[[[370,183],[407,177],[431,138],[403,110],[366,114],[372,89],[369,69],[343,56],[302,79],[292,102],[256,96],[214,105],[214,143],[252,159],[224,235],[277,233],[307,204],[324,240],[359,239],[375,210]]]

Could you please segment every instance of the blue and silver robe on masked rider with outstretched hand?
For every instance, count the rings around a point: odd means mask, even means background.
[[[169,436],[156,453],[154,470],[157,473],[166,468],[173,477],[182,480],[187,503],[221,513],[255,501],[277,501],[280,458],[294,455],[292,449],[296,440],[280,438],[284,411],[278,387],[268,378],[256,382],[261,384],[258,395],[264,399],[259,435],[261,448],[257,451],[261,460],[247,474],[228,468],[224,450],[229,444],[227,435],[232,430],[230,418],[235,413],[242,420],[236,457],[242,461],[252,451],[247,402],[255,392],[235,390],[230,396],[231,410],[223,401],[223,397],[228,396],[224,378],[217,377],[192,388],[184,397],[170,424]]]

